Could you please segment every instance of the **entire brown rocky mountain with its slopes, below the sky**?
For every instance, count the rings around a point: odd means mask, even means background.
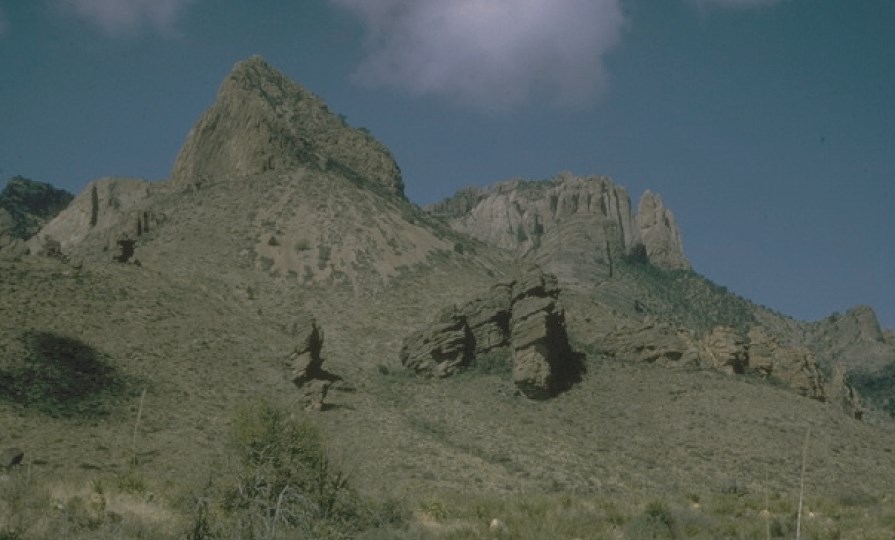
[[[29,464],[0,496],[31,501],[0,527],[555,537],[532,527],[575,512],[570,537],[750,537],[770,504],[783,535],[810,428],[805,526],[884,535],[891,333],[868,308],[806,323],[733,295],[658,195],[632,208],[563,174],[421,209],[384,146],[240,62],[170,179],[91,182],[30,255],[0,248],[0,450]],[[267,483],[299,459],[280,435],[313,439],[297,419],[324,434],[317,477],[350,471],[356,496]]]

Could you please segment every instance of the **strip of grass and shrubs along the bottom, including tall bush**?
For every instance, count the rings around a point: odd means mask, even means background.
[[[117,474],[36,473],[0,481],[0,540],[70,539],[640,539],[795,538],[798,493],[356,492],[304,415],[267,402],[238,407],[214,474],[159,484],[139,464]],[[805,496],[801,537],[891,539],[887,497]]]

